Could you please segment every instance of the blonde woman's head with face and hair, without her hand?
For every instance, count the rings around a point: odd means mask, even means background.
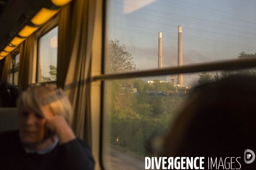
[[[19,133],[23,143],[36,144],[46,138],[46,117],[64,116],[70,124],[71,104],[60,88],[45,85],[29,88],[24,91],[18,101]]]

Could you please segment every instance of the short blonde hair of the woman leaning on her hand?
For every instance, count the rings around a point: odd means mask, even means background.
[[[27,107],[38,113],[42,117],[46,117],[43,106],[47,106],[53,115],[64,116],[70,125],[72,116],[72,107],[69,99],[61,88],[56,85],[47,84],[35,86],[23,91],[17,100],[19,112],[22,108]]]

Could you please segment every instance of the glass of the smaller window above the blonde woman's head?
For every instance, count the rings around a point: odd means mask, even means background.
[[[38,40],[38,82],[56,80],[58,53],[58,27]]]

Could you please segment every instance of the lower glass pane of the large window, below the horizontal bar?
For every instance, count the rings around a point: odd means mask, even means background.
[[[160,156],[163,136],[193,89],[230,75],[256,76],[255,68],[183,74],[189,86],[139,77],[105,81],[103,161],[106,169],[145,169],[145,156]],[[197,80],[192,81],[191,76]],[[161,76],[166,77],[166,76]],[[168,76],[167,76],[168,77]],[[232,87],[232,83],[225,88]],[[242,88],[242,87],[241,87]],[[207,96],[207,94],[206,94]],[[192,98],[190,98],[192,99]]]

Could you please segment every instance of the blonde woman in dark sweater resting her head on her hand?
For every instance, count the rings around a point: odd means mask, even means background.
[[[91,150],[69,126],[72,108],[60,88],[29,88],[17,106],[19,130],[0,134],[1,168],[94,169]]]

